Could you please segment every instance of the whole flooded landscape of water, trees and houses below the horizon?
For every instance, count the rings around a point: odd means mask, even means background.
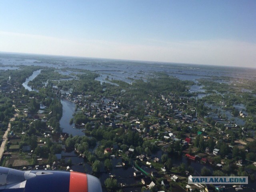
[[[1,166],[86,172],[104,191],[256,189],[255,68],[0,53],[0,109]]]

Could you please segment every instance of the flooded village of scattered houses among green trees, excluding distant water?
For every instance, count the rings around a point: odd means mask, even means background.
[[[230,174],[254,182],[256,170],[256,141],[247,128],[223,117],[212,118],[214,109],[194,98],[172,91],[151,92],[147,100],[129,100],[125,91],[96,96],[67,92],[57,81],[37,89],[44,91],[28,92],[11,80],[0,88],[15,114],[2,166],[82,170],[98,176],[108,191],[251,191],[247,186],[188,184],[189,176]],[[61,129],[61,100],[75,106],[70,128],[84,136]],[[224,107],[226,102],[218,105]],[[249,115],[241,110],[238,118]],[[73,162],[78,156],[79,162]]]

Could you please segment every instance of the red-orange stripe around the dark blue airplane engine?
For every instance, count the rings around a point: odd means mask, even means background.
[[[88,192],[87,175],[70,172],[69,192]]]

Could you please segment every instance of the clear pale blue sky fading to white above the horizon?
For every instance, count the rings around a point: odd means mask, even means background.
[[[256,68],[256,1],[0,0],[0,52]]]

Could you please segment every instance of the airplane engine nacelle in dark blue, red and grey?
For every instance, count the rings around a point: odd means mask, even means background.
[[[0,167],[0,192],[102,192],[100,180],[79,172]]]

